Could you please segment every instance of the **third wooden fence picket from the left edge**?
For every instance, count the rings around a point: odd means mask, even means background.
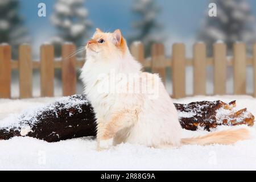
[[[54,48],[42,45],[40,48],[41,97],[53,97],[54,93]]]

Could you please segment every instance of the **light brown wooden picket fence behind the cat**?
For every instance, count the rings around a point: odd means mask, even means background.
[[[54,72],[61,69],[63,96],[76,93],[76,69],[84,65],[84,59],[70,56],[76,47],[69,43],[62,46],[62,58],[56,60],[53,46],[50,44],[40,47],[40,61],[32,60],[31,47],[24,44],[19,47],[18,60],[11,59],[11,47],[0,45],[0,98],[11,98],[11,70],[19,71],[19,98],[32,97],[32,70],[40,70],[40,91],[42,97],[54,96]],[[256,97],[256,44],[253,47],[253,56],[246,57],[244,43],[235,43],[233,57],[226,57],[226,45],[216,43],[213,45],[213,57],[207,57],[204,43],[196,43],[193,47],[193,58],[185,57],[185,46],[176,43],[172,46],[172,56],[164,56],[163,44],[154,44],[151,48],[151,57],[144,57],[142,43],[136,42],[130,47],[133,56],[139,60],[144,68],[151,68],[154,73],[159,73],[163,81],[166,78],[166,68],[172,69],[172,88],[174,98],[186,97],[185,93],[185,68],[193,67],[193,95],[206,94],[206,68],[214,68],[214,94],[226,94],[226,68],[233,67],[234,94],[246,94],[246,66],[254,70],[254,93]]]

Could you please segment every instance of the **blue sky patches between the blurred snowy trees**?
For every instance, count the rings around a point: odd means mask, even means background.
[[[46,3],[46,17],[38,16],[40,2]],[[55,28],[49,20],[55,2],[56,0],[20,0],[20,13],[26,20],[32,44],[36,47],[55,35]],[[94,28],[100,27],[105,31],[120,28],[126,36],[132,31],[131,22],[134,16],[130,9],[133,2],[133,0],[87,0],[85,7],[89,11],[89,19],[93,22]],[[159,22],[163,24],[168,36],[174,36],[176,41],[184,42],[192,39],[208,10],[209,2],[208,0],[157,0],[156,3],[162,8],[162,13],[158,16]],[[248,0],[248,2],[256,16],[256,1]]]

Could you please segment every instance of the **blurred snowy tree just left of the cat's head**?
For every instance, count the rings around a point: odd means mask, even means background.
[[[51,16],[58,33],[53,42],[73,42],[77,46],[84,43],[92,26],[87,19],[88,11],[84,7],[84,2],[84,0],[57,0]]]

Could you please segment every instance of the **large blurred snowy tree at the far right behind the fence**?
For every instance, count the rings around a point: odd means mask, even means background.
[[[199,39],[208,47],[212,54],[212,45],[218,40],[227,44],[228,54],[232,52],[234,42],[245,42],[249,51],[256,40],[255,19],[251,14],[246,0],[211,1],[217,5],[217,16],[210,17],[207,13],[199,31]]]

